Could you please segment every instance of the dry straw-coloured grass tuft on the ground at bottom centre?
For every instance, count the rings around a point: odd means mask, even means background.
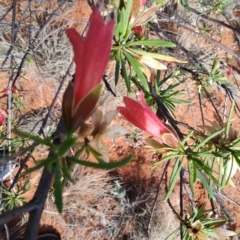
[[[106,171],[87,171],[76,166],[75,184],[64,191],[64,210],[60,216],[49,198],[42,222],[53,225],[62,239],[165,239],[178,227],[166,203],[154,211],[151,233],[148,223],[155,198],[152,189],[141,184],[122,183]]]

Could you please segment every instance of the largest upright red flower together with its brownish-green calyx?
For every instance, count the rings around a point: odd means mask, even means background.
[[[111,50],[113,27],[114,21],[105,24],[99,11],[94,9],[86,38],[75,29],[66,31],[76,64],[74,84],[67,87],[62,105],[65,125],[71,130],[80,127],[96,107]]]

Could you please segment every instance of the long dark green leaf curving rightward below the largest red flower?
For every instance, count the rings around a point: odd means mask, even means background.
[[[79,160],[76,159],[74,157],[71,158],[67,158],[69,161],[87,166],[87,167],[92,167],[92,168],[98,168],[98,169],[106,169],[106,170],[110,170],[113,168],[119,168],[122,167],[124,165],[126,165],[127,163],[129,163],[132,160],[133,156],[129,155],[128,157],[124,158],[123,160],[117,161],[117,162],[100,162],[100,163],[94,163],[94,162],[87,162],[87,161],[83,161],[83,160]]]

